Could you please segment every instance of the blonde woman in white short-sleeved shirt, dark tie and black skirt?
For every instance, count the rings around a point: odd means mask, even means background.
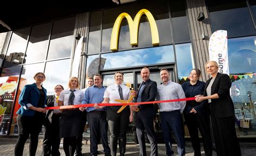
[[[59,106],[79,105],[84,98],[84,92],[79,90],[77,77],[69,79],[69,89],[59,95]],[[78,108],[65,109],[59,121],[59,136],[63,138],[63,149],[66,155],[74,155],[76,151],[77,136],[82,125],[82,111]]]

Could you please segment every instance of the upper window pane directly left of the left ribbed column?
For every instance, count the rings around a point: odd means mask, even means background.
[[[76,17],[71,17],[53,23],[47,59],[70,57],[75,22]]]

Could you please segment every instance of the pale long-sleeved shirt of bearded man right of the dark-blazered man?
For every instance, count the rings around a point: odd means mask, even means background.
[[[166,85],[161,84],[157,87],[157,100],[172,100],[172,99],[183,99],[186,98],[185,93],[180,84],[171,82],[167,82]],[[170,112],[179,110],[180,113],[183,112],[186,101],[177,101],[171,103],[159,103],[160,112]]]

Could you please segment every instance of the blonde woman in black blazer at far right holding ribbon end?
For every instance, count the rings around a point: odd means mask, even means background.
[[[230,97],[230,77],[218,72],[215,61],[207,62],[205,69],[212,77],[206,82],[204,96],[196,96],[196,101],[208,100],[217,155],[241,155],[235,132],[234,104]]]

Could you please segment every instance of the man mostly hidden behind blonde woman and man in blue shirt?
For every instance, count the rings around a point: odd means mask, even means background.
[[[82,89],[82,91],[85,93],[85,91],[90,87],[93,86],[93,78],[92,77],[87,77],[85,79],[85,84],[86,84],[86,88]],[[82,129],[81,129],[81,134],[78,136],[77,138],[77,148],[76,148],[76,152],[75,155],[82,155],[82,140],[83,140],[83,133],[84,133],[84,128],[87,122],[87,112],[83,111],[83,116],[82,116]]]

